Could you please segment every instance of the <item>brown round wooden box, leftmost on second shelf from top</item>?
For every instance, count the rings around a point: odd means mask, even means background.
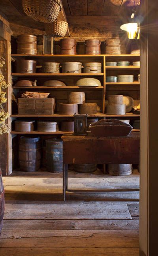
[[[36,73],[36,60],[15,60],[16,73]]]

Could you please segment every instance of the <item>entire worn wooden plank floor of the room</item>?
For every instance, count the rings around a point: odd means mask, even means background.
[[[66,202],[61,174],[14,172],[3,178],[6,209],[0,255],[138,256],[138,172],[126,177],[99,170],[88,175],[70,172],[69,177]]]

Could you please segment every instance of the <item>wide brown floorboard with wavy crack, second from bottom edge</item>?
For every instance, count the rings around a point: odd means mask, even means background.
[[[4,230],[0,247],[138,247],[138,230]]]

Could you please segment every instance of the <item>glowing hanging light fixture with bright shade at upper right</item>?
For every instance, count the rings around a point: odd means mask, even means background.
[[[140,1],[139,1],[139,3],[140,3]],[[134,8],[133,8],[132,15],[129,19],[129,23],[126,23],[126,24],[123,24],[122,26],[120,26],[120,29],[127,31],[129,39],[139,39],[140,38],[140,24],[139,24],[138,18],[135,16],[135,11],[136,11],[136,7],[135,7],[135,0],[134,0]]]

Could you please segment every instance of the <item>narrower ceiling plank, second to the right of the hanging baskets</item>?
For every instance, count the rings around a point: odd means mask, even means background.
[[[101,16],[105,0],[87,0],[88,15]]]

